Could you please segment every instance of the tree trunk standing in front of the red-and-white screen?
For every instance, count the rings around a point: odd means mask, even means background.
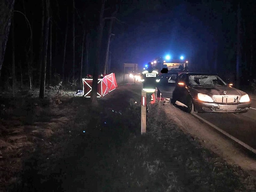
[[[98,75],[99,75],[99,52],[101,47],[102,32],[104,26],[103,14],[104,14],[105,0],[102,0],[101,11],[99,15],[99,25],[97,27],[97,44],[96,44],[96,54],[95,54],[95,63],[93,70],[93,84],[92,84],[92,94],[91,100],[93,105],[97,105],[97,87],[98,87]]]

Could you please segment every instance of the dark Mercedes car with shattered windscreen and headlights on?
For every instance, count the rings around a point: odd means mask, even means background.
[[[247,93],[208,73],[179,75],[171,99],[172,103],[176,101],[187,105],[188,113],[246,113],[251,106]]]

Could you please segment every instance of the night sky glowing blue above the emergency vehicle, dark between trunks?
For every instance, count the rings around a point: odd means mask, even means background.
[[[53,72],[62,71],[63,47],[66,28],[67,8],[69,7],[69,31],[67,43],[66,76],[72,69],[72,1],[51,0],[53,18]],[[90,48],[95,45],[96,26],[99,17],[100,1],[75,0],[75,63],[79,74],[83,27],[91,32]],[[111,70],[118,71],[124,62],[138,63],[140,68],[157,57],[166,54],[177,59],[181,55],[189,60],[192,71],[213,71],[217,63],[220,74],[234,74],[236,66],[237,5],[238,1],[107,1],[104,17],[119,6],[111,37]],[[242,61],[243,74],[256,71],[255,62],[255,1],[241,1],[242,11]],[[41,36],[41,1],[25,1],[26,15],[33,28],[35,68]],[[22,1],[16,1],[15,10],[24,12]],[[24,48],[30,32],[25,19],[15,13],[15,49],[18,62],[25,62]],[[105,59],[107,31],[106,20],[103,30],[101,63]],[[11,62],[11,30],[7,44],[5,71]],[[85,56],[85,55],[84,55]],[[253,58],[251,59],[251,56]],[[89,71],[93,66],[93,51],[90,49]],[[100,66],[100,69],[103,68]],[[24,69],[25,70],[25,69]],[[103,69],[102,69],[103,70]],[[18,73],[18,69],[17,69]],[[85,73],[85,72],[83,72]],[[255,73],[251,73],[254,75]],[[85,74],[84,74],[85,75]],[[255,77],[254,77],[255,78]]]

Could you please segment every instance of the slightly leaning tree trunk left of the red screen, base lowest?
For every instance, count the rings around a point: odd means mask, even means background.
[[[44,62],[42,63],[41,69],[41,82],[40,82],[40,92],[39,98],[44,99],[44,90],[45,90],[45,74],[46,74],[46,62],[47,62],[47,47],[48,47],[48,32],[49,32],[49,0],[45,0],[46,2],[46,23],[45,23],[45,30],[44,30]]]

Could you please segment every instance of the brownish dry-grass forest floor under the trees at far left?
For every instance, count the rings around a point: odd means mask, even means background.
[[[35,166],[40,172],[49,169],[49,159],[62,156],[71,138],[69,126],[78,104],[70,96],[56,98],[54,91],[46,92],[50,96],[44,100],[29,91],[0,98],[0,191],[19,185],[21,171]],[[30,161],[35,156],[36,165]]]

